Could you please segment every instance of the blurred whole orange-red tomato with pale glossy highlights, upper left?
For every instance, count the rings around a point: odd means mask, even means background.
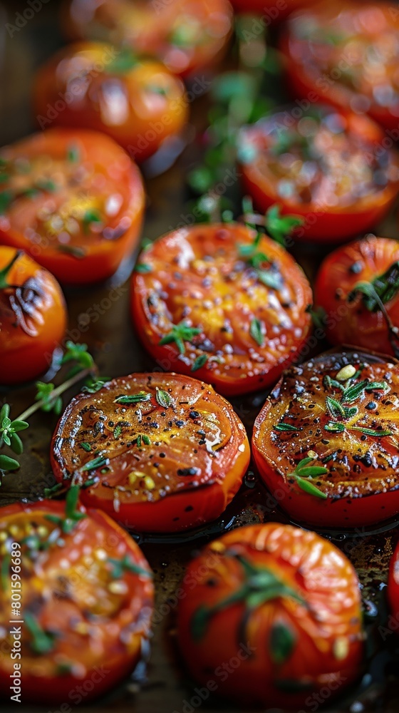
[[[128,49],[78,42],[39,69],[33,101],[40,127],[103,131],[140,163],[187,121],[182,81],[160,62]]]

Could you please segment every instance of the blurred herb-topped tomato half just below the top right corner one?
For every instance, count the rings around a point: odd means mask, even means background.
[[[399,158],[383,141],[366,116],[291,106],[242,130],[244,188],[259,210],[279,202],[302,216],[294,237],[346,240],[376,225],[398,193]]]

